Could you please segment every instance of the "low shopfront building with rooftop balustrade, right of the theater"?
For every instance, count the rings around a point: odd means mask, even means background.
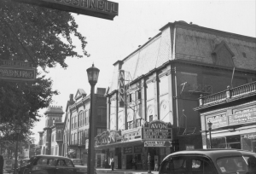
[[[202,96],[203,148],[237,148],[256,153],[256,81]],[[208,123],[212,123],[211,140]]]

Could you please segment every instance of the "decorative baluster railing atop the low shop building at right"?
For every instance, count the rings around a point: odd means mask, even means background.
[[[256,81],[250,84],[237,86],[236,88],[230,88],[230,86],[228,86],[227,90],[209,96],[201,95],[199,103],[200,106],[204,106],[214,102],[222,102],[226,99],[236,98],[237,96],[243,96],[254,91],[256,92]]]

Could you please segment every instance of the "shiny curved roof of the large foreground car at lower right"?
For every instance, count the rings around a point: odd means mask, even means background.
[[[174,157],[174,156],[203,155],[215,160],[221,157],[241,156],[245,154],[247,155],[251,154],[253,156],[256,156],[256,154],[253,152],[244,151],[240,149],[232,149],[232,148],[215,148],[214,149],[213,148],[213,149],[196,149],[196,150],[178,151],[178,152],[167,155],[165,159],[169,157]]]

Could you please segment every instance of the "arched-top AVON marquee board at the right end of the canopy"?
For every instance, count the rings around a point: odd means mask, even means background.
[[[160,120],[145,123],[143,128],[143,140],[171,141],[172,125]]]

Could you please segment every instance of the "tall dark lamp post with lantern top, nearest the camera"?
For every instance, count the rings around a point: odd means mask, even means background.
[[[98,81],[100,70],[94,67],[88,68],[87,70],[88,81],[90,83],[90,118],[89,118],[89,146],[88,146],[88,160],[87,160],[87,173],[94,173],[94,165],[95,165],[95,140],[94,140],[94,129],[95,129],[95,121],[93,119],[94,116],[94,87]]]

